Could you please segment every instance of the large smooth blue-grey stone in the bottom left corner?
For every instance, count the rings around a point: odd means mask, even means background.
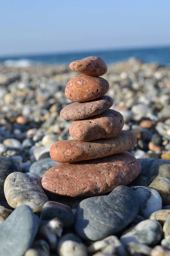
[[[31,247],[40,225],[31,208],[21,205],[0,224],[0,255],[23,256]]]

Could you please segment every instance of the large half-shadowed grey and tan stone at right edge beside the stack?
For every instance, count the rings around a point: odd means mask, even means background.
[[[162,198],[162,204],[170,204],[170,161],[151,158],[138,160],[142,165],[142,171],[131,185],[156,189]]]

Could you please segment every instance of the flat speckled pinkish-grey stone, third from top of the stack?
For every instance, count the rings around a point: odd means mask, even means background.
[[[65,106],[60,116],[65,120],[79,120],[90,116],[99,115],[113,105],[113,99],[110,96],[102,96],[99,99],[90,102],[74,102]]]

